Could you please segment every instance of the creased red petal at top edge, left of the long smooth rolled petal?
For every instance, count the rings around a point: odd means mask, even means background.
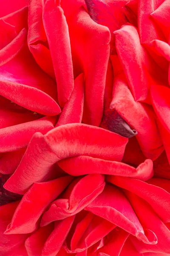
[[[53,62],[42,23],[42,0],[28,1],[28,47],[37,64],[55,78]]]

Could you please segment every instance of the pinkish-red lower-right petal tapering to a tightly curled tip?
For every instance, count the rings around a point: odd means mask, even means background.
[[[147,244],[156,244],[155,234],[144,230],[125,195],[116,186],[106,185],[103,192],[91,202],[86,210],[111,221]]]

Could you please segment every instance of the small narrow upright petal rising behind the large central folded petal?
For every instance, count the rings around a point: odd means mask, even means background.
[[[65,103],[55,127],[69,123],[81,123],[84,106],[84,76],[80,74],[74,81],[70,99]]]

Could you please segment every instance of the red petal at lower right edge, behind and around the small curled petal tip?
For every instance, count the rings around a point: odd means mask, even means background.
[[[144,244],[142,241],[137,240],[131,236],[136,249],[139,253],[155,252],[155,253],[170,253],[170,230],[160,220],[158,215],[153,211],[152,207],[144,201],[142,198],[134,195],[130,192],[125,192],[125,195],[130,200],[136,215],[139,218],[140,223],[146,229],[152,230],[158,239],[157,244]]]

